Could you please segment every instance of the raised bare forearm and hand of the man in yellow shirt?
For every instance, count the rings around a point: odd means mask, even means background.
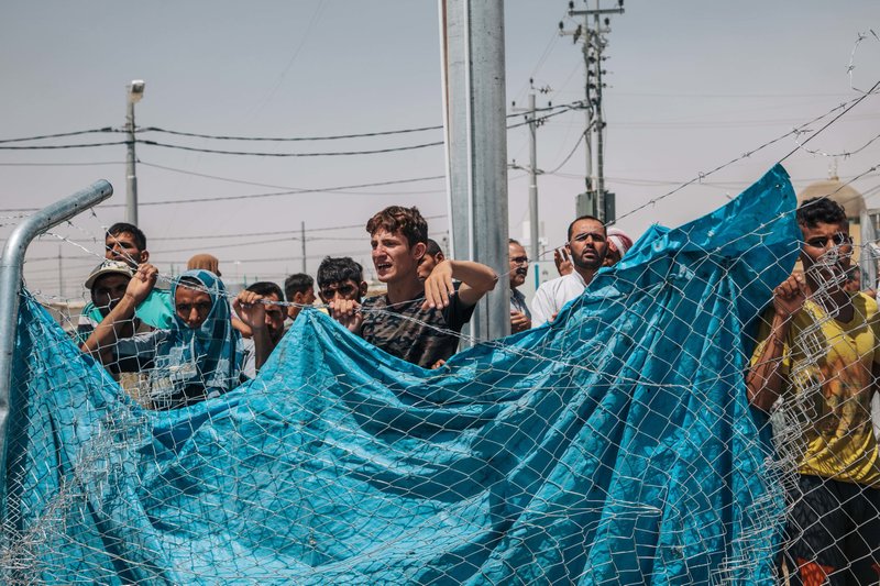
[[[763,350],[746,376],[749,402],[769,411],[782,392],[785,378],[781,373],[785,336],[792,317],[803,307],[805,299],[803,277],[792,275],[773,289],[773,321]]]

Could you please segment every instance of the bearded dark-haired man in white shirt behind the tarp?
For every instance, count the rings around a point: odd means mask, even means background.
[[[605,225],[593,215],[581,215],[569,225],[565,252],[574,268],[570,274],[541,285],[531,301],[531,323],[552,321],[562,307],[584,292],[602,268],[608,251]]]

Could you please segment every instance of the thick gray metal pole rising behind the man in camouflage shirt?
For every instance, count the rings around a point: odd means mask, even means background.
[[[451,256],[508,272],[504,1],[440,0]],[[470,333],[510,333],[510,284],[476,307]]]

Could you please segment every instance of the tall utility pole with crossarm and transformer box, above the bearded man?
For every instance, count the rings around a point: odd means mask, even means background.
[[[605,74],[603,62],[607,58],[603,55],[608,46],[607,33],[610,32],[608,25],[608,14],[623,14],[624,1],[617,0],[617,8],[601,8],[602,0],[595,0],[595,9],[575,10],[574,1],[569,2],[569,16],[583,16],[583,24],[579,24],[573,31],[566,31],[564,23],[559,23],[559,34],[574,36],[574,42],[583,43],[584,56],[584,108],[586,109],[586,129],[584,141],[586,144],[586,175],[584,184],[586,191],[578,196],[578,214],[590,213],[596,215],[602,221],[608,223],[615,219],[615,197],[614,194],[605,191],[605,120],[602,103],[602,90],[605,87],[602,76]],[[605,15],[604,21],[601,16]],[[591,22],[591,16],[593,16]],[[595,134],[595,153],[593,151],[593,134]],[[595,157],[595,166],[593,164]],[[595,169],[595,174],[594,174]]]

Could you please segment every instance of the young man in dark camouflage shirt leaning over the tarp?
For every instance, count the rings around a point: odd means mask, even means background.
[[[417,208],[386,208],[370,219],[366,231],[376,275],[388,291],[362,305],[332,301],[331,314],[389,354],[425,368],[441,364],[455,353],[458,332],[495,287],[497,275],[480,263],[444,259],[420,280],[428,223]]]

